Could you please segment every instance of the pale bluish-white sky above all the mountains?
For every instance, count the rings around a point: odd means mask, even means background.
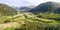
[[[20,6],[30,6],[30,5],[37,6],[41,3],[48,1],[60,2],[60,0],[0,0],[0,3],[5,3],[9,6],[20,7]]]

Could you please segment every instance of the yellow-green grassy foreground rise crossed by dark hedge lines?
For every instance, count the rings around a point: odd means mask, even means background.
[[[39,14],[39,15],[42,15],[42,14]],[[56,21],[54,19],[47,19],[48,16],[37,17],[39,15],[34,15],[32,13],[25,12],[25,13],[19,13],[14,16],[5,16],[5,18],[1,17],[2,19],[0,24],[7,25],[9,23],[9,25],[6,28],[2,28],[3,30],[47,30],[47,29],[60,30],[59,21]],[[15,24],[14,22],[17,24],[17,26],[14,25]]]

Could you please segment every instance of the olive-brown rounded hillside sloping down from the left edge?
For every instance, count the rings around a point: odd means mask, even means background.
[[[10,6],[0,3],[0,15],[15,15],[17,11],[15,9],[11,8]]]

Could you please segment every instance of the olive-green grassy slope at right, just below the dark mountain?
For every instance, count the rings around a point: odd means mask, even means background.
[[[46,13],[40,13],[37,15],[37,17],[39,18],[46,18],[46,19],[51,19],[51,20],[56,20],[56,21],[60,21],[60,14],[54,14],[54,13],[50,13],[50,14],[46,14]]]

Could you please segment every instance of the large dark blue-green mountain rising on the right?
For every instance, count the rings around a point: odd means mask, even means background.
[[[31,9],[29,12],[32,13],[60,13],[60,3],[58,2],[46,2],[38,5],[37,7]]]

